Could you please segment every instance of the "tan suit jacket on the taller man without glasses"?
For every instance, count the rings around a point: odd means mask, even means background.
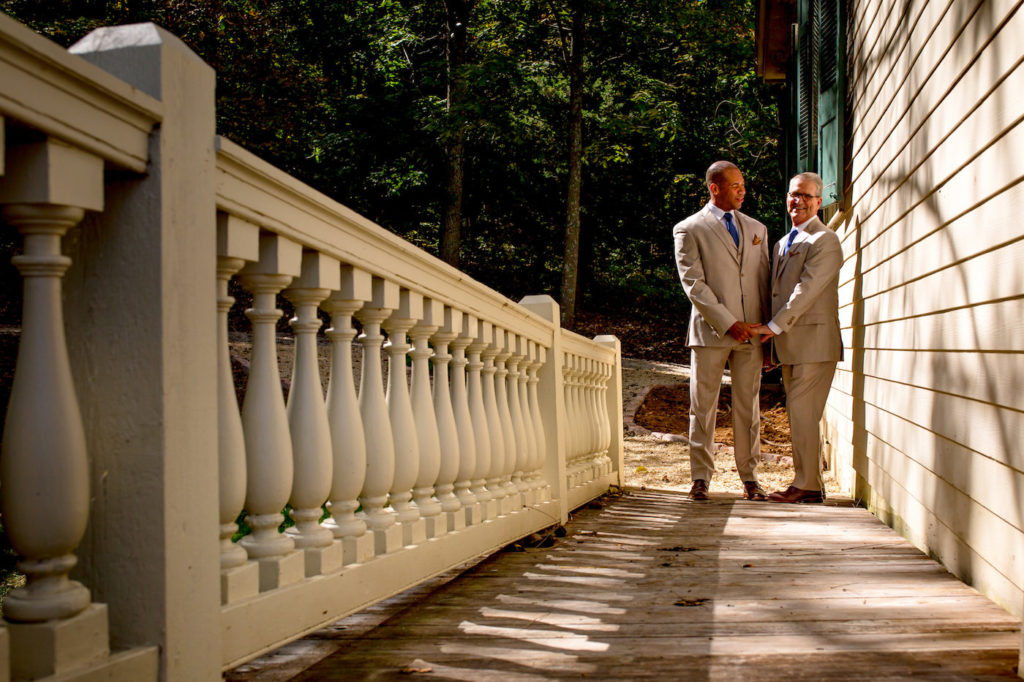
[[[738,345],[728,335],[733,323],[768,318],[768,230],[739,211],[733,215],[738,248],[708,206],[672,230],[679,279],[693,304],[686,340],[691,348]]]

